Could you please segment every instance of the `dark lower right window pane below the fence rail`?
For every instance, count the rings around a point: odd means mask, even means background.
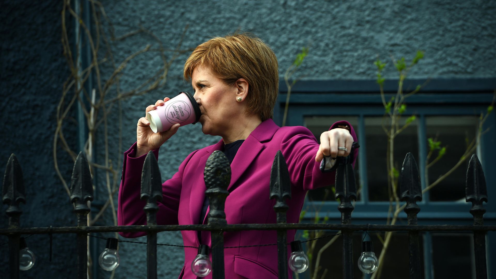
[[[435,279],[475,278],[471,235],[433,233],[432,245]]]

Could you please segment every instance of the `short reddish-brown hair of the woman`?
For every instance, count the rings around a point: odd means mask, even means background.
[[[186,80],[191,80],[198,66],[210,67],[227,85],[246,79],[249,84],[247,113],[260,115],[262,121],[273,117],[279,92],[277,58],[260,38],[249,33],[212,38],[197,46],[186,60]]]

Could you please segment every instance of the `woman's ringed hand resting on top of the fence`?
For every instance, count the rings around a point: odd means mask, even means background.
[[[336,128],[326,131],[320,135],[320,146],[318,147],[315,161],[320,162],[324,156],[336,158],[338,156],[348,156],[351,152],[353,137],[346,129]],[[348,150],[338,150],[339,147],[346,147]]]

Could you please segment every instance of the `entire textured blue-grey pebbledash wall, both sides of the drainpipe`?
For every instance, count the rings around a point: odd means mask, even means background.
[[[390,61],[390,55],[411,59],[418,49],[425,51],[425,59],[410,72],[412,78],[496,77],[495,1],[120,0],[105,1],[104,5],[116,36],[141,25],[160,38],[165,48],[178,44],[186,25],[189,27],[182,49],[192,49],[212,36],[223,36],[238,28],[255,33],[273,48],[281,78],[304,46],[309,46],[310,51],[298,70],[303,79],[370,80],[375,77],[373,62],[377,55],[384,61]],[[22,226],[75,224],[68,197],[55,175],[51,153],[57,101],[68,75],[60,43],[61,9],[62,3],[5,0],[0,12],[4,123],[0,163],[6,163],[8,155],[15,152],[23,167],[28,205],[23,207]],[[155,43],[146,34],[113,43],[116,61],[147,44]],[[144,115],[145,107],[181,90],[191,90],[182,76],[187,55],[181,55],[171,66],[164,87],[124,101],[123,150],[112,145],[114,167],[121,167],[122,162],[115,162],[117,155],[135,141],[136,122]],[[122,89],[151,76],[160,63],[156,55],[138,56],[123,72]],[[104,75],[109,73],[104,69]],[[386,74],[394,77],[391,68]],[[111,117],[117,123],[115,115]],[[71,144],[75,145],[76,125],[73,129]],[[118,141],[114,136],[118,135],[117,124],[110,127],[109,135],[109,142]],[[160,150],[163,179],[170,178],[191,151],[218,140],[203,135],[199,124],[181,127]],[[70,164],[62,168],[70,175]],[[97,178],[99,185],[101,180]],[[3,212],[4,208],[5,215]],[[1,226],[6,227],[6,218],[0,219]],[[49,263],[48,236],[28,238],[39,260],[22,277],[62,278],[59,276],[72,274],[69,267],[75,262],[70,257],[74,250],[71,240],[69,235],[54,236],[54,261]],[[158,242],[182,244],[182,239],[179,232],[167,232],[159,234]],[[99,245],[103,249],[104,243]],[[0,274],[5,274],[8,261],[3,247]],[[145,250],[142,244],[120,243],[121,265],[115,278],[145,278]],[[183,266],[183,250],[161,246],[158,259],[159,277],[176,278]],[[100,278],[109,276],[103,271],[99,274]]]

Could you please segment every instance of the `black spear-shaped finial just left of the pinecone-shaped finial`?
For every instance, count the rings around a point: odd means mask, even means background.
[[[147,215],[147,224],[157,224],[157,201],[162,201],[162,177],[157,159],[152,151],[148,152],[141,172],[141,200],[146,200],[143,210]]]

